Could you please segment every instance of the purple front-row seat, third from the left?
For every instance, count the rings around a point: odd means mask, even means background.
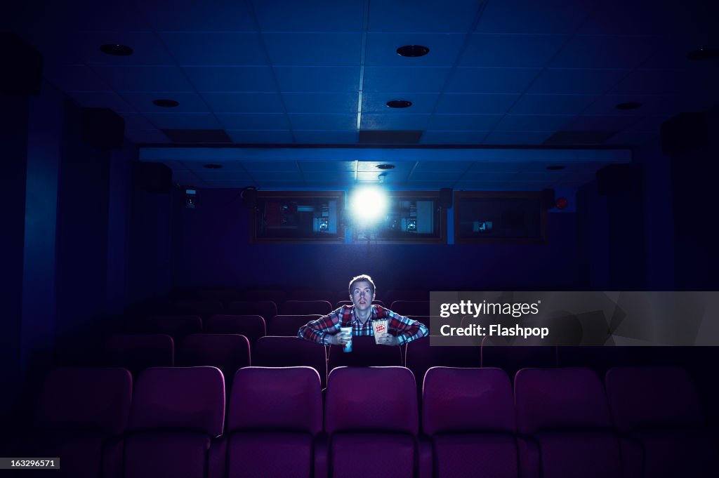
[[[320,377],[310,367],[248,367],[232,385],[226,430],[227,478],[313,477],[322,429]]]

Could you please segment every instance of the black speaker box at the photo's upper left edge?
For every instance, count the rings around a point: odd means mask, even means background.
[[[40,52],[11,32],[0,32],[0,49],[3,52],[0,94],[40,96],[42,83]]]

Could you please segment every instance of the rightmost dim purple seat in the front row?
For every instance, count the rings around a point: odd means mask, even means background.
[[[646,477],[717,476],[716,437],[697,388],[679,367],[618,367],[606,376],[616,428],[641,443]]]

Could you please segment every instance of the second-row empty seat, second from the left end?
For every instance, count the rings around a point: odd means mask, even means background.
[[[219,368],[225,377],[226,391],[229,392],[234,373],[251,364],[249,341],[239,334],[191,334],[182,342],[178,364]]]

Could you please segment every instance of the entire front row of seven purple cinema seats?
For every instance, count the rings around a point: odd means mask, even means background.
[[[684,369],[240,369],[225,404],[214,367],[53,371],[19,456],[58,476],[707,477],[715,437]],[[420,418],[421,417],[421,418]],[[421,425],[420,425],[421,424]],[[45,472],[47,473],[47,472]]]

